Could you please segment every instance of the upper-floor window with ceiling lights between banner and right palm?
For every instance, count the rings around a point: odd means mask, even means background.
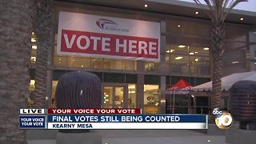
[[[210,53],[208,47],[167,45],[167,73],[210,74]]]

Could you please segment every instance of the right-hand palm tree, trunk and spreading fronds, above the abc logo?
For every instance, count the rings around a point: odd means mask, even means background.
[[[211,108],[221,108],[222,102],[222,54],[224,52],[224,39],[225,39],[225,19],[233,10],[234,6],[237,6],[239,2],[247,2],[247,0],[204,0],[206,6],[202,5],[199,0],[194,0],[202,10],[205,11],[207,16],[212,22],[212,43],[211,53],[212,60],[212,96],[211,96]]]

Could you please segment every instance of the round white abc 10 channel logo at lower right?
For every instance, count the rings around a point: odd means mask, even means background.
[[[230,113],[227,111],[219,110],[219,108],[215,108],[213,110],[213,114],[215,117],[215,124],[220,129],[228,129],[232,125],[233,118]]]

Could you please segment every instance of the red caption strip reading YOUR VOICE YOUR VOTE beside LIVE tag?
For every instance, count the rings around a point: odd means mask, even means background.
[[[141,109],[48,109],[48,114],[142,114]]]

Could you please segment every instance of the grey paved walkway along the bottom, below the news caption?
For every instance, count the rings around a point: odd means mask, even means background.
[[[33,138],[28,131],[28,144],[55,144],[56,130],[47,130],[51,138]],[[44,131],[39,131],[45,133]],[[47,133],[48,133],[47,132]],[[101,134],[102,144],[226,144],[225,135],[207,135],[194,130],[91,130],[90,133]]]

